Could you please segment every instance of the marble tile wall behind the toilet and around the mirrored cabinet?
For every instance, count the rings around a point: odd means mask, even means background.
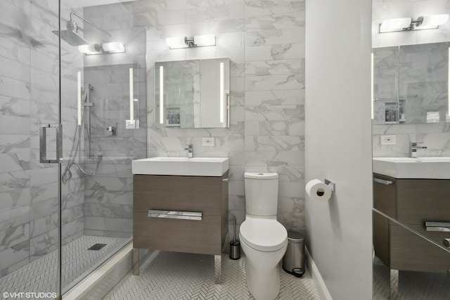
[[[136,1],[147,32],[148,157],[229,156],[229,212],[245,219],[245,171],[280,174],[278,219],[304,228],[304,0]],[[216,46],[169,50],[167,37],[215,34]],[[229,129],[157,129],[158,61],[231,59]],[[202,146],[214,137],[214,147]]]

